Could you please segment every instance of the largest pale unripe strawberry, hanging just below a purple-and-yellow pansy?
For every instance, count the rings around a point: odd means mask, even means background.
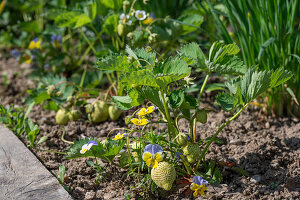
[[[159,162],[156,168],[152,168],[151,178],[158,187],[170,190],[176,179],[175,168],[168,162]]]

